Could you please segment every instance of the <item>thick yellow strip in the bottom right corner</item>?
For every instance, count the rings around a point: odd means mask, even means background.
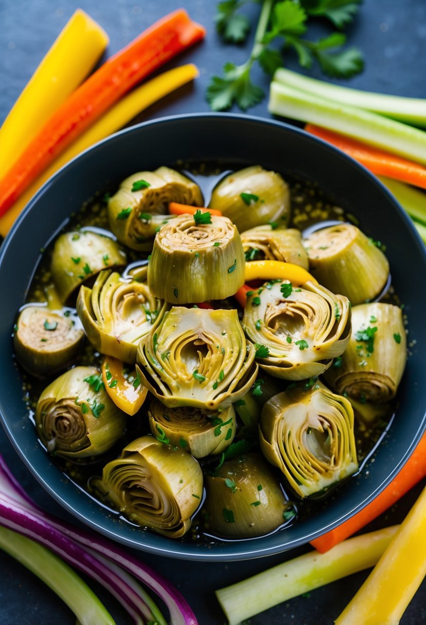
[[[397,625],[425,575],[426,488],[335,624]]]

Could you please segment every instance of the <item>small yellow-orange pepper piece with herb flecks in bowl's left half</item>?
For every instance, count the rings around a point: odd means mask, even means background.
[[[102,363],[102,380],[106,392],[118,408],[126,414],[136,414],[145,401],[148,389],[134,372],[133,382],[127,381],[123,374],[124,362],[107,356]]]

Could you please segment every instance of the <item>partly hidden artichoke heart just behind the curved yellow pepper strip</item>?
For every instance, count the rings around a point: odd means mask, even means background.
[[[292,262],[309,269],[302,234],[295,228],[256,226],[242,232],[241,242],[247,261]]]

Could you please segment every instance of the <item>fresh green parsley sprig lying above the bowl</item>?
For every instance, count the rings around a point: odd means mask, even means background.
[[[227,42],[245,41],[250,23],[239,9],[256,0],[225,0],[217,5],[216,29]],[[334,31],[322,39],[310,41],[304,35],[312,18],[328,19],[339,30],[354,19],[360,0],[263,0],[257,22],[254,44],[249,58],[242,65],[227,63],[222,76],[212,76],[207,87],[207,101],[213,111],[225,111],[236,103],[240,109],[258,104],[264,91],[252,83],[250,71],[255,63],[267,74],[273,74],[284,64],[283,54],[294,49],[302,68],[309,69],[314,61],[334,78],[349,78],[359,73],[364,61],[359,49],[342,49],[346,37]],[[280,49],[270,47],[272,42]],[[284,44],[284,46],[282,45]]]

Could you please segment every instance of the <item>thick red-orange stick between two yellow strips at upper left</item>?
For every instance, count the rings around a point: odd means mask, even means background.
[[[56,109],[0,181],[0,216],[51,161],[135,84],[204,37],[179,9],[108,59]]]

